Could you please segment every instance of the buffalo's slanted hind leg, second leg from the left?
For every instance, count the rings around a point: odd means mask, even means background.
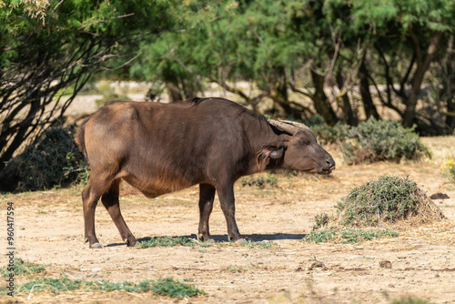
[[[120,212],[120,203],[118,201],[119,185],[120,179],[116,179],[107,192],[101,197],[101,201],[116,224],[116,228],[118,229],[118,232],[120,232],[123,241],[126,241],[127,246],[133,247],[136,245],[137,241],[126,226],[125,219]]]

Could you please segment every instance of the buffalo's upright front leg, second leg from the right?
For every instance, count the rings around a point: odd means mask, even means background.
[[[210,218],[210,213],[212,213],[215,191],[215,187],[211,185],[199,185],[199,230],[197,238],[204,241],[211,239],[208,229],[208,218]]]

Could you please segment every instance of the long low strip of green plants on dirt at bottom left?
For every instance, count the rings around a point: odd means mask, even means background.
[[[139,283],[125,281],[123,283],[114,283],[109,280],[87,281],[84,279],[69,279],[66,275],[60,278],[35,278],[17,287],[18,294],[28,292],[49,291],[56,295],[66,291],[95,291],[103,290],[106,292],[114,290],[125,290],[126,292],[153,292],[160,296],[183,299],[195,297],[197,295],[206,295],[203,290],[197,289],[172,278],[147,279]]]

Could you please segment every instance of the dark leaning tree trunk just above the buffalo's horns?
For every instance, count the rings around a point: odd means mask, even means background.
[[[332,106],[330,106],[329,99],[324,92],[325,77],[320,76],[315,72],[313,68],[311,68],[311,79],[315,88],[313,102],[316,108],[316,112],[318,112],[318,114],[324,118],[329,126],[334,126],[338,121],[338,117],[335,114]]]

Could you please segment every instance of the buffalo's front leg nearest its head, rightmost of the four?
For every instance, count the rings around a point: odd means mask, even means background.
[[[240,239],[240,232],[236,223],[236,206],[234,198],[234,185],[228,183],[222,187],[217,187],[219,204],[226,218],[227,234],[230,241],[238,241]]]

